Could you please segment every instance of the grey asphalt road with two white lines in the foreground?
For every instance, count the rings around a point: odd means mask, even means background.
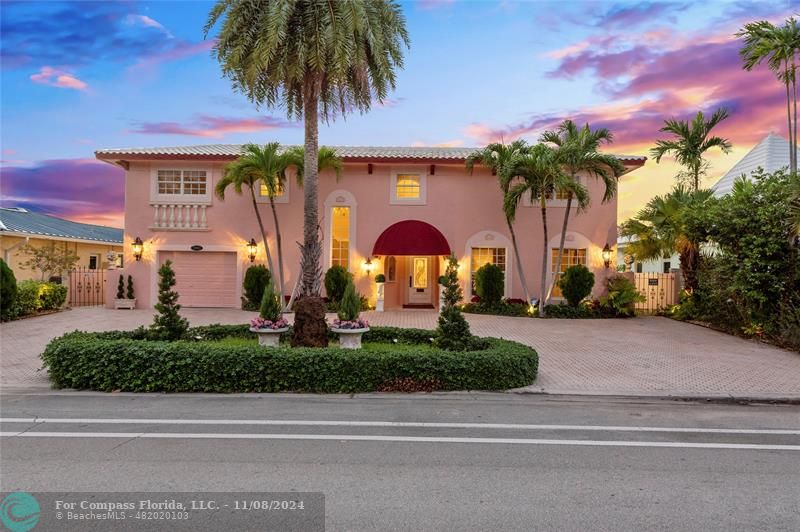
[[[327,530],[800,530],[797,405],[47,393],[0,418],[3,492],[321,492]]]

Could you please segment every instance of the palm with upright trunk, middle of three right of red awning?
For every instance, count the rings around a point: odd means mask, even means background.
[[[579,203],[587,201],[586,187],[577,183],[564,173],[558,161],[558,154],[546,144],[537,144],[532,148],[515,154],[503,167],[503,179],[520,181],[513,184],[506,194],[503,210],[506,218],[514,221],[519,202],[529,195],[531,203],[539,202],[542,213],[542,276],[539,292],[539,315],[544,317],[544,294],[547,290],[548,240],[547,199],[556,192],[572,192]]]

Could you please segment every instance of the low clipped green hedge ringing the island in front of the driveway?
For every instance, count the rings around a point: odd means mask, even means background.
[[[387,343],[369,351],[139,339],[145,334],[69,333],[50,342],[42,359],[56,388],[131,392],[358,393],[408,380],[440,390],[504,390],[531,384],[538,369],[528,346],[487,338],[485,349],[450,352],[429,347],[433,331],[419,329],[372,328],[364,340]],[[246,325],[194,327],[187,336],[255,337]],[[394,341],[426,345],[401,351]]]

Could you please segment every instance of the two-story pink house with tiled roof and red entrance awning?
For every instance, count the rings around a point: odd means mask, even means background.
[[[497,177],[486,168],[473,175],[464,168],[474,149],[334,149],[343,160],[343,175],[337,180],[333,172],[323,172],[319,181],[323,270],[334,264],[347,268],[357,289],[373,302],[373,278],[383,273],[385,308],[434,308],[437,279],[445,258],[454,253],[467,300],[475,270],[487,262],[505,272],[506,297],[524,297]],[[214,196],[214,185],[240,150],[240,145],[224,144],[96,152],[98,159],[125,170],[125,273],[133,276],[139,306],[154,304],[158,267],[171,260],[183,306],[239,307],[243,275],[251,264],[248,242],[258,243],[255,263],[264,263],[265,253],[249,197],[228,191],[222,201]],[[645,161],[619,158],[629,170]],[[617,241],[617,203],[601,202],[601,182],[584,181],[592,204],[570,221],[563,268],[588,266],[595,272],[599,294],[604,279],[614,272],[613,264],[606,267],[602,250]],[[257,193],[276,257],[269,198],[266,190]],[[298,278],[303,190],[290,177],[275,201],[285,254],[284,291],[289,294]],[[560,197],[550,201],[549,278],[565,203]],[[515,227],[533,297],[540,296],[541,225],[538,206],[523,202]],[[137,238],[143,242],[140,260],[132,253]]]

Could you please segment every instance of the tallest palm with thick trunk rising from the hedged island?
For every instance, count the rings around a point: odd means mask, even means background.
[[[220,21],[214,53],[234,90],[258,107],[283,105],[290,117],[304,120],[301,293],[314,301],[298,307],[292,343],[327,345],[324,305],[316,301],[322,282],[319,120],[366,112],[373,98],[383,101],[394,89],[409,44],[405,17],[393,0],[218,0],[205,34]]]

